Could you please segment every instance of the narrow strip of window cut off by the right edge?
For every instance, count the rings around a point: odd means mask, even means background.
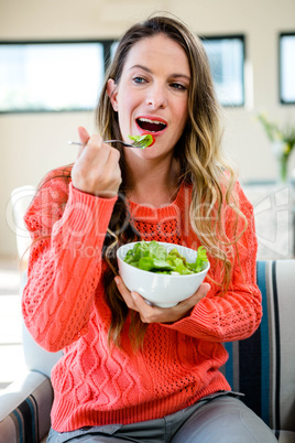
[[[295,104],[295,32],[280,35],[280,101]]]

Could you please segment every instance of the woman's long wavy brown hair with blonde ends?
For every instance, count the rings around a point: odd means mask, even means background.
[[[119,41],[114,57],[106,75],[100,100],[96,109],[98,130],[105,139],[121,139],[118,115],[113,110],[107,94],[107,83],[112,78],[118,85],[129,51],[143,39],[165,34],[184,50],[190,68],[188,90],[188,120],[183,136],[175,145],[174,155],[179,163],[182,180],[193,186],[189,208],[190,224],[200,242],[211,257],[223,264],[223,290],[231,278],[231,261],[228,251],[234,248],[238,237],[230,241],[226,235],[222,205],[226,202],[237,214],[237,223],[243,214],[234,199],[233,186],[236,174],[221,153],[222,128],[220,106],[215,95],[209,63],[200,40],[184,23],[171,17],[152,17],[134,24]],[[124,242],[140,239],[125,204],[128,186],[128,165],[124,152],[121,152],[120,168],[122,183],[118,193],[109,228],[105,238],[102,258],[108,263],[103,274],[106,300],[111,310],[112,321],[109,339],[120,345],[120,335],[129,315],[129,309],[120,295],[114,277],[118,273],[116,251]],[[225,173],[226,171],[226,173]],[[200,204],[201,203],[201,204]],[[245,220],[245,218],[244,218]],[[247,222],[244,224],[244,229]],[[241,235],[241,234],[240,234]],[[146,326],[136,313],[131,313],[130,332],[134,333],[135,344],[143,342]]]

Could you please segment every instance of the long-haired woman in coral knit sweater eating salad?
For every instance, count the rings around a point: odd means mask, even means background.
[[[261,320],[253,213],[220,152],[219,107],[200,42],[155,17],[121,39],[97,108],[100,134],[51,173],[25,216],[33,238],[23,316],[52,374],[48,442],[272,442],[230,392],[221,344]],[[107,139],[150,132],[144,150]],[[161,309],[130,293],[117,248],[204,245],[208,279]]]

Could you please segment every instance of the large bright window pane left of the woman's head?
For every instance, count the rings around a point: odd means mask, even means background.
[[[109,42],[0,43],[0,112],[94,109]]]

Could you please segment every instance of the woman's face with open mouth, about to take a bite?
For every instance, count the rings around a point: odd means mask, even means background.
[[[152,133],[155,143],[139,155],[172,151],[187,121],[190,69],[184,50],[165,34],[135,43],[118,85],[108,83],[124,141],[129,134]],[[135,151],[135,150],[134,150]]]

